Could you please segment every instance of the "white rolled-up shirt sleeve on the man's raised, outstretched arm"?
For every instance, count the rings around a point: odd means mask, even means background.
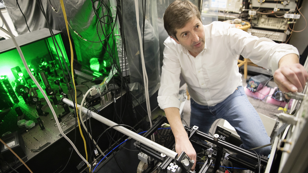
[[[279,60],[287,54],[297,54],[298,50],[284,43],[276,43],[269,38],[258,38],[251,34],[235,28],[229,27],[227,46],[232,54],[241,54],[244,58],[249,58],[253,63],[273,71],[278,69]]]

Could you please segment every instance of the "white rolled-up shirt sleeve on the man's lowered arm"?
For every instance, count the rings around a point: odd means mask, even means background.
[[[177,56],[176,46],[172,45],[168,37],[164,42],[164,60],[161,70],[160,88],[157,102],[161,109],[168,107],[180,108],[180,100],[177,98],[180,87],[181,66]]]

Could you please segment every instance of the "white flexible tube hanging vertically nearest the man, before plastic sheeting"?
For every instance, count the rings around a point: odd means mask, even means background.
[[[149,87],[148,87],[148,74],[147,74],[147,70],[145,68],[145,63],[144,63],[144,52],[143,52],[143,47],[142,47],[142,38],[141,38],[141,31],[140,31],[140,25],[139,25],[139,7],[138,7],[138,1],[137,0],[135,0],[135,9],[136,9],[137,31],[138,31],[139,44],[140,44],[140,55],[141,55],[144,88],[145,88],[144,95],[145,95],[145,101],[146,101],[146,105],[147,105],[150,127],[152,127],[152,115],[151,115],[151,105],[150,105]],[[155,140],[154,135],[152,135],[151,138],[152,138],[152,140]]]

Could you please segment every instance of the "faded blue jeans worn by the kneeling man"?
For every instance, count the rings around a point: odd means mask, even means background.
[[[243,86],[237,87],[233,94],[215,106],[203,106],[190,99],[190,126],[198,126],[199,130],[209,133],[209,129],[216,119],[227,120],[240,135],[246,150],[270,143],[264,125],[257,111],[248,101]],[[269,155],[271,147],[255,150],[260,155]]]

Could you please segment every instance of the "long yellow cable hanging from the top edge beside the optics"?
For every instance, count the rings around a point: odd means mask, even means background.
[[[72,42],[71,42],[70,32],[69,32],[69,29],[68,29],[68,22],[67,22],[67,17],[66,17],[66,13],[65,13],[65,8],[64,8],[63,0],[60,0],[60,3],[61,3],[62,11],[63,11],[63,16],[64,16],[64,20],[65,20],[65,25],[66,25],[68,39],[70,41],[70,47],[71,47],[71,73],[72,73],[72,79],[73,79],[73,84],[74,84],[74,90],[75,90],[75,93],[77,93],[76,86],[75,86],[74,69],[73,69],[73,62],[74,62],[73,46],[72,46]],[[77,95],[76,94],[75,94],[75,105],[76,105],[76,113],[77,113],[79,131],[80,131],[80,135],[81,135],[81,137],[83,139],[84,150],[86,152],[86,160],[88,161],[87,144],[86,144],[86,140],[84,139],[84,136],[83,136],[82,131],[81,131],[80,121],[82,121],[82,120],[79,120],[79,116],[78,116]],[[82,107],[82,105],[80,105],[80,108],[81,107]]]

